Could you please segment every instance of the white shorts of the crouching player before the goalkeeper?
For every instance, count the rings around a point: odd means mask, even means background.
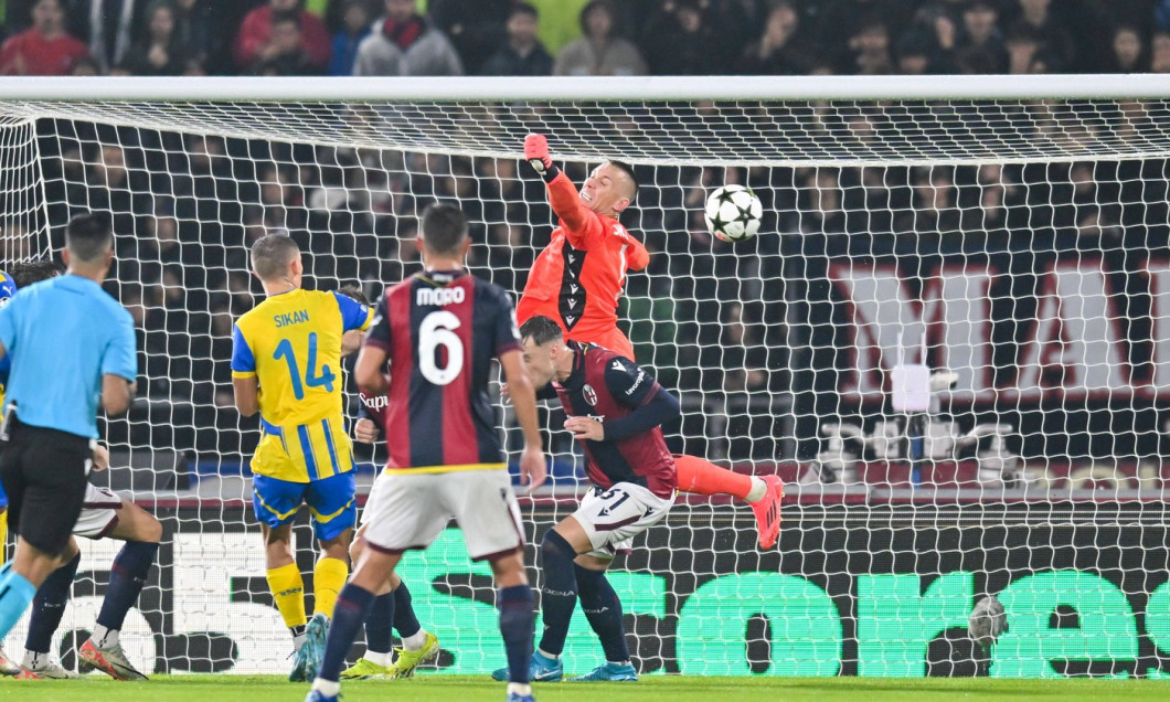
[[[610,489],[594,487],[573,512],[593,546],[587,555],[608,559],[619,551],[629,551],[635,536],[670,511],[674,498],[675,494],[663,498],[627,482],[614,483]]]

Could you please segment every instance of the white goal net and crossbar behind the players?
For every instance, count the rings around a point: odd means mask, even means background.
[[[250,243],[287,233],[307,287],[373,298],[419,270],[421,209],[455,202],[472,271],[518,295],[556,226],[522,160],[536,131],[576,183],[606,158],[638,172],[622,221],[651,263],[620,326],[682,400],[672,448],[787,486],[776,549],[757,549],[742,501],[684,494],[615,562],[642,674],[1163,675],[1164,81],[4,87],[5,264],[58,252],[74,214],[113,222],[106,287],[135,317],[142,377],[129,415],[103,425],[113,461],[95,480],[166,525],[122,636],[142,669],[288,666],[250,511],[257,427],[230,395],[232,324],[262,295]],[[762,200],[753,239],[707,232],[724,184]],[[542,415],[552,480],[523,500],[530,544],[586,487],[563,414]],[[364,493],[385,453],[356,449]],[[85,545],[67,665],[116,550]],[[456,529],[401,574],[439,672],[504,665],[490,572]],[[986,649],[968,635],[984,594],[1009,624]],[[579,612],[565,655],[573,672],[601,661]]]

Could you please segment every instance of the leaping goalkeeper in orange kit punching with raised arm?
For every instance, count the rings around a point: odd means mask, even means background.
[[[524,139],[524,158],[544,179],[549,204],[559,218],[516,305],[523,324],[543,315],[565,338],[617,351],[629,359],[634,347],[618,328],[618,301],[627,270],[642,270],[649,253],[618,221],[638,193],[634,170],[619,160],[596,167],[580,191],[552,163],[543,135]],[[756,514],[759,545],[770,549],[780,529],[784,483],[776,475],[742,475],[696,456],[676,456],[679,489],[700,495],[732,495]]]

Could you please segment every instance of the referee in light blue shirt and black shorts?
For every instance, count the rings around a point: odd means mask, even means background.
[[[113,236],[95,215],[70,220],[66,275],[23,288],[0,309],[0,356],[12,357],[0,427],[0,480],[19,535],[0,571],[0,639],[62,555],[85,496],[97,400],[121,414],[135,393],[133,321],[102,290]]]

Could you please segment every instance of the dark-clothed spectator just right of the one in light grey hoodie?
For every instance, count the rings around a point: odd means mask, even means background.
[[[488,58],[508,40],[512,0],[429,0],[427,16],[447,35],[464,70],[483,73]]]

